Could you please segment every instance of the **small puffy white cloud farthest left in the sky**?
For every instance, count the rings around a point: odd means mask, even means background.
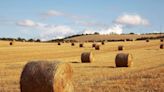
[[[16,24],[19,26],[25,26],[25,27],[35,27],[36,26],[36,23],[29,19],[18,21]]]

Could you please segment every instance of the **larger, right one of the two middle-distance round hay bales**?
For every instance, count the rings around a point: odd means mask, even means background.
[[[116,67],[130,67],[132,59],[133,57],[129,53],[118,53],[115,58]]]

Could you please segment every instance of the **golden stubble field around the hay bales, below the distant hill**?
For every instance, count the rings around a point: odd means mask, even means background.
[[[0,92],[20,92],[19,80],[28,61],[48,60],[69,63],[73,68],[75,92],[164,92],[164,50],[159,40],[106,42],[100,50],[92,43],[34,43],[0,41]],[[98,43],[100,44],[100,43]],[[123,51],[117,51],[123,45]],[[82,52],[92,51],[93,63],[81,63]],[[119,52],[133,55],[133,66],[115,67]]]

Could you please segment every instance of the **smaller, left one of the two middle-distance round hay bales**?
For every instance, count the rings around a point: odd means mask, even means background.
[[[93,62],[94,58],[93,58],[93,54],[92,52],[83,52],[81,54],[81,62],[82,63],[91,63]]]

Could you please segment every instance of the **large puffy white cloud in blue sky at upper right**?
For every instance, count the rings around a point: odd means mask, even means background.
[[[137,14],[124,14],[122,16],[119,16],[114,22],[117,24],[130,25],[130,26],[149,25],[149,21],[147,19],[144,19]]]

